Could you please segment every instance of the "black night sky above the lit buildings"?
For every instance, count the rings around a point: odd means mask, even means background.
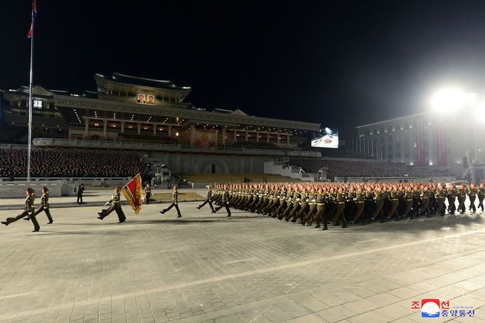
[[[355,125],[485,86],[485,1],[38,0],[34,83],[94,73],[169,79],[211,110]],[[0,88],[28,85],[31,1],[0,10]]]

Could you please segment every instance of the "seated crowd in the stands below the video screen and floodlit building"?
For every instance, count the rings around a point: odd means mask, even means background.
[[[302,167],[307,173],[326,169],[329,179],[339,177],[403,177],[403,176],[443,176],[442,171],[421,169],[416,166],[389,162],[363,162],[331,159],[290,159],[289,165]]]

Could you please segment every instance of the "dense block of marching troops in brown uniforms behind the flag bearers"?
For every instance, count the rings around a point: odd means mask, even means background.
[[[468,197],[468,203],[466,204]],[[328,230],[351,223],[400,221],[404,218],[484,211],[485,184],[479,187],[435,183],[215,184],[206,201],[212,212],[235,208],[279,220]],[[478,199],[478,205],[476,200]],[[212,203],[218,204],[213,208]],[[458,204],[458,208],[457,208]]]

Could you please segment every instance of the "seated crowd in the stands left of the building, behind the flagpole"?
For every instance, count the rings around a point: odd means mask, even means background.
[[[32,177],[129,177],[144,173],[136,154],[33,150]],[[0,149],[0,177],[25,177],[26,149]]]

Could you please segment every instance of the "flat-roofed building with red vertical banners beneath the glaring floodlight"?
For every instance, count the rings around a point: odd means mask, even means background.
[[[485,132],[468,114],[427,112],[356,127],[352,149],[389,162],[484,179]]]

